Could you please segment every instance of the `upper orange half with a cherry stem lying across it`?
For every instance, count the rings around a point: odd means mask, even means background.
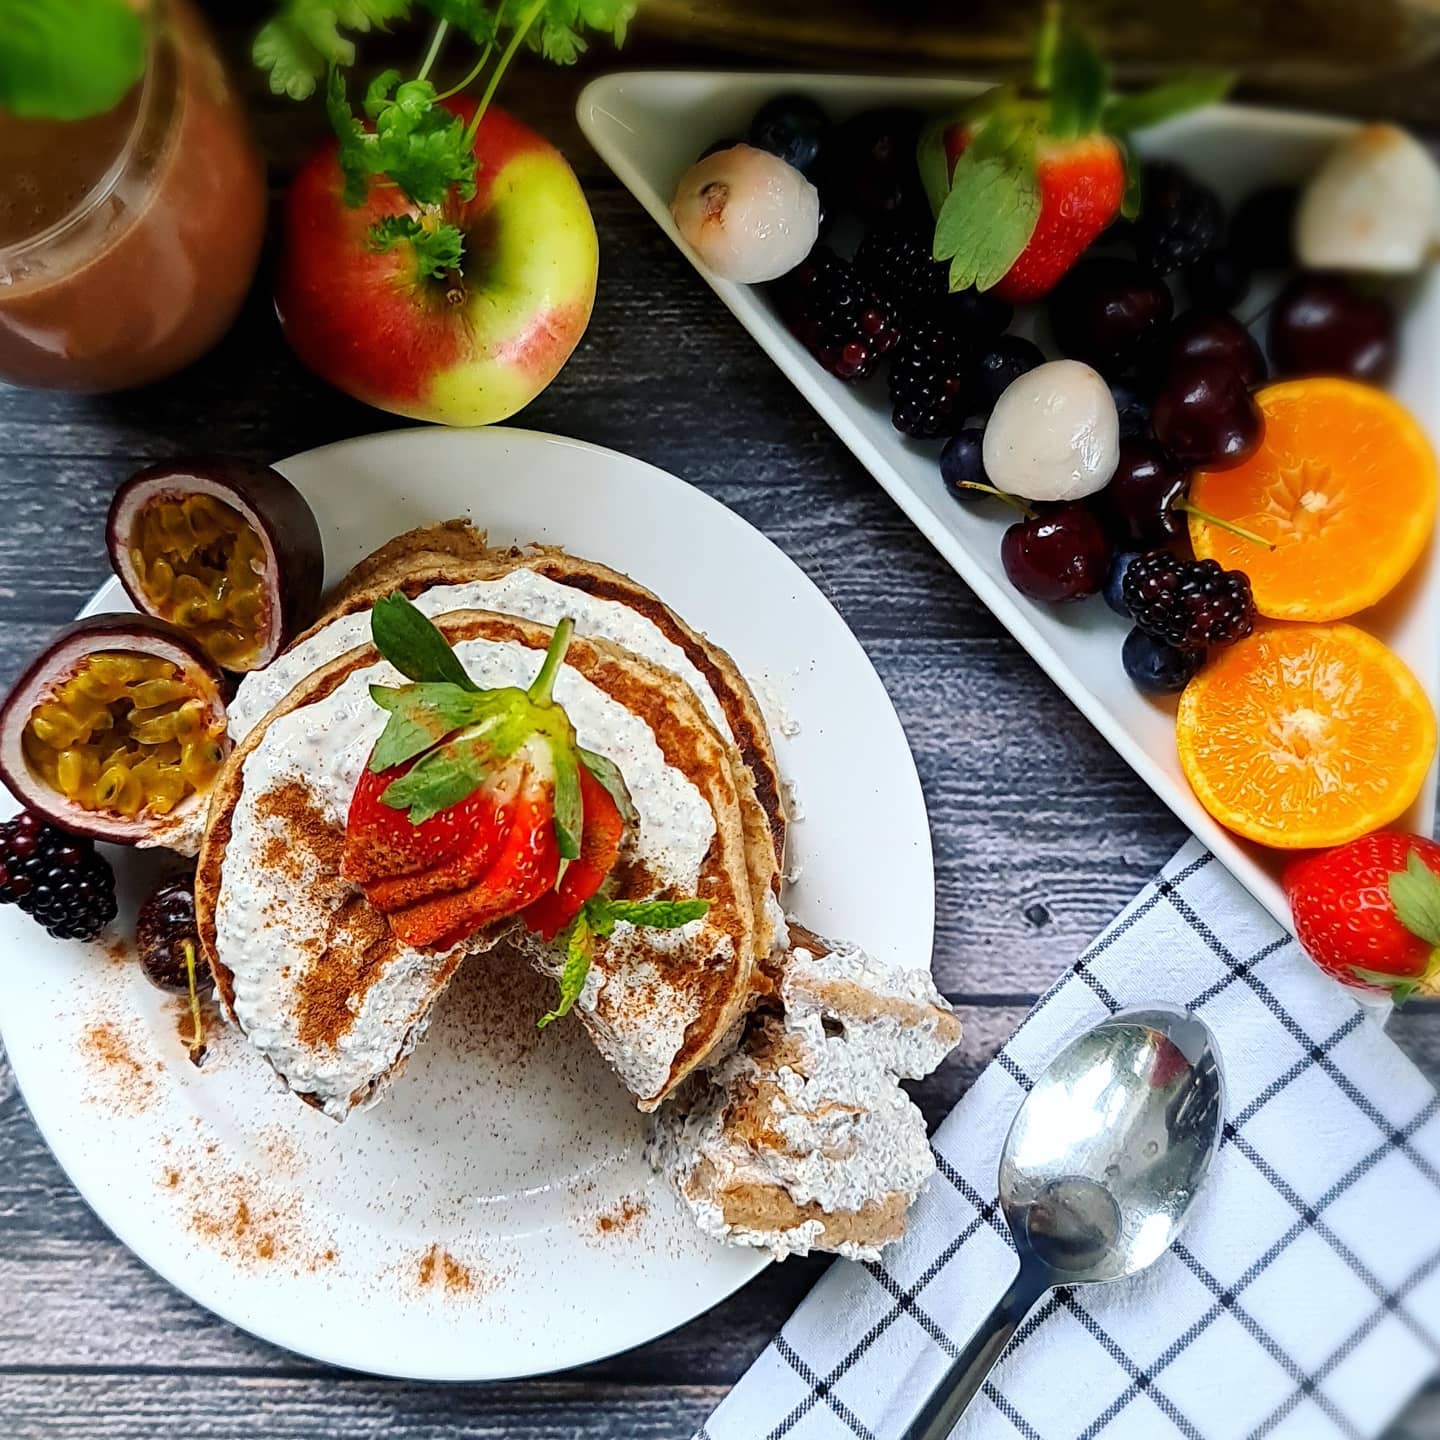
[[[1333,621],[1374,605],[1430,539],[1430,441],[1398,400],[1354,380],[1286,380],[1256,399],[1260,448],[1234,469],[1197,474],[1191,500],[1274,549],[1191,516],[1195,554],[1244,570],[1273,619]]]

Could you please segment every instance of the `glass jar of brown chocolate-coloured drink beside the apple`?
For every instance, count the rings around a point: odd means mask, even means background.
[[[0,118],[0,380],[144,384],[225,333],[255,274],[265,167],[189,0],[145,72],[81,121]]]

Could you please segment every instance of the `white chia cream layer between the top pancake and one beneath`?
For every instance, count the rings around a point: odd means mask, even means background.
[[[724,736],[730,734],[724,708],[690,657],[668,639],[654,621],[621,600],[602,600],[521,566],[495,580],[432,585],[416,596],[415,605],[431,616],[451,611],[495,611],[539,625],[559,625],[562,619],[570,616],[582,635],[613,641],[642,660],[678,675],[696,693],[716,729]],[[369,639],[369,611],[341,615],[276,657],[265,670],[246,675],[229,706],[230,737],[239,744],[255,729],[256,721],[311,671],[357,645],[367,644]]]

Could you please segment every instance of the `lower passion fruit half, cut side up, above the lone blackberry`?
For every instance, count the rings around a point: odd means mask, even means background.
[[[194,854],[230,752],[222,687],[174,625],[75,621],[0,704],[0,779],[71,834]]]

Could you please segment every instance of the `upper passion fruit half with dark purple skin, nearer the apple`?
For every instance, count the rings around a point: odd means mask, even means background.
[[[320,526],[269,465],[151,465],[115,491],[107,544],[135,609],[179,625],[223,670],[262,670],[320,605]]]

